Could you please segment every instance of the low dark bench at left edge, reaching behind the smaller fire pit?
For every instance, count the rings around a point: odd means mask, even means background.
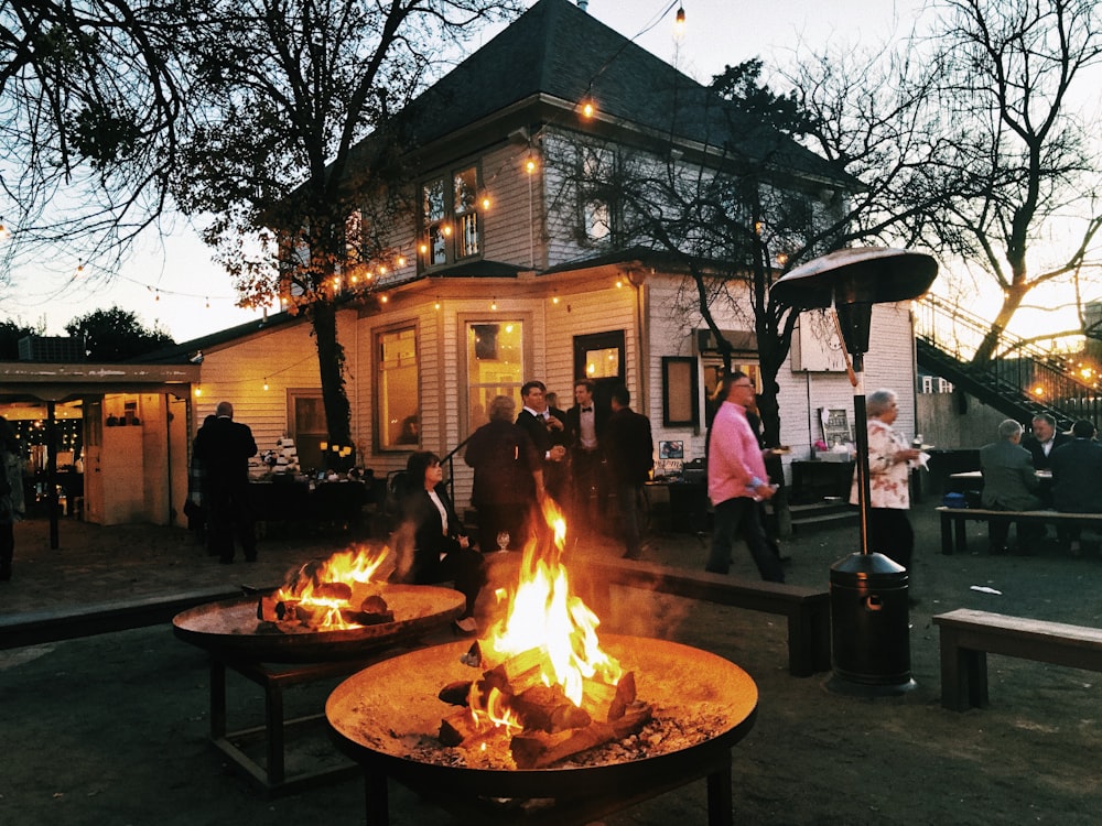
[[[65,610],[44,609],[0,617],[0,650],[169,622],[183,610],[241,596],[216,586],[170,596],[94,602]]]

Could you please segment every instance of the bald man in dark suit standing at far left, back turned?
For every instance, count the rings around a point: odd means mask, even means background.
[[[234,562],[237,534],[247,562],[257,561],[257,537],[249,503],[249,457],[257,442],[246,424],[234,421],[234,405],[218,402],[216,419],[195,434],[195,456],[203,463],[203,496],[208,502],[210,553],[225,565]]]

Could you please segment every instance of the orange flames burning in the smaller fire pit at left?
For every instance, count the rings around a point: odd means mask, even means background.
[[[386,546],[372,550],[367,545],[354,545],[321,563],[309,562],[299,568],[292,582],[276,591],[274,599],[307,608],[312,615],[310,624],[313,628],[360,628],[358,622],[346,620],[341,611],[358,608],[364,598],[369,596],[372,576],[388,554],[389,548]],[[326,589],[326,586],[336,583],[347,586],[347,589]]]

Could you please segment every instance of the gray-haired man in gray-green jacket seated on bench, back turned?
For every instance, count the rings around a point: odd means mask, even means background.
[[[983,472],[983,494],[980,502],[984,508],[996,511],[1033,511],[1041,506],[1037,491],[1040,482],[1034,470],[1033,456],[1022,447],[1022,425],[1013,419],[998,425],[998,441],[980,448],[980,469]],[[987,523],[987,539],[992,554],[1005,554],[1009,534],[1009,520],[992,519]],[[1036,525],[1018,523],[1018,552],[1033,553],[1033,546],[1040,541]]]

